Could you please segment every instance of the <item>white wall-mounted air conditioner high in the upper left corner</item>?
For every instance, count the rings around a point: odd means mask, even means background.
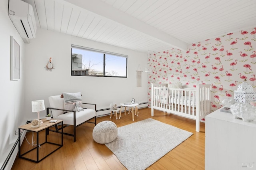
[[[9,17],[21,38],[36,38],[36,20],[32,5],[21,0],[9,0]]]

